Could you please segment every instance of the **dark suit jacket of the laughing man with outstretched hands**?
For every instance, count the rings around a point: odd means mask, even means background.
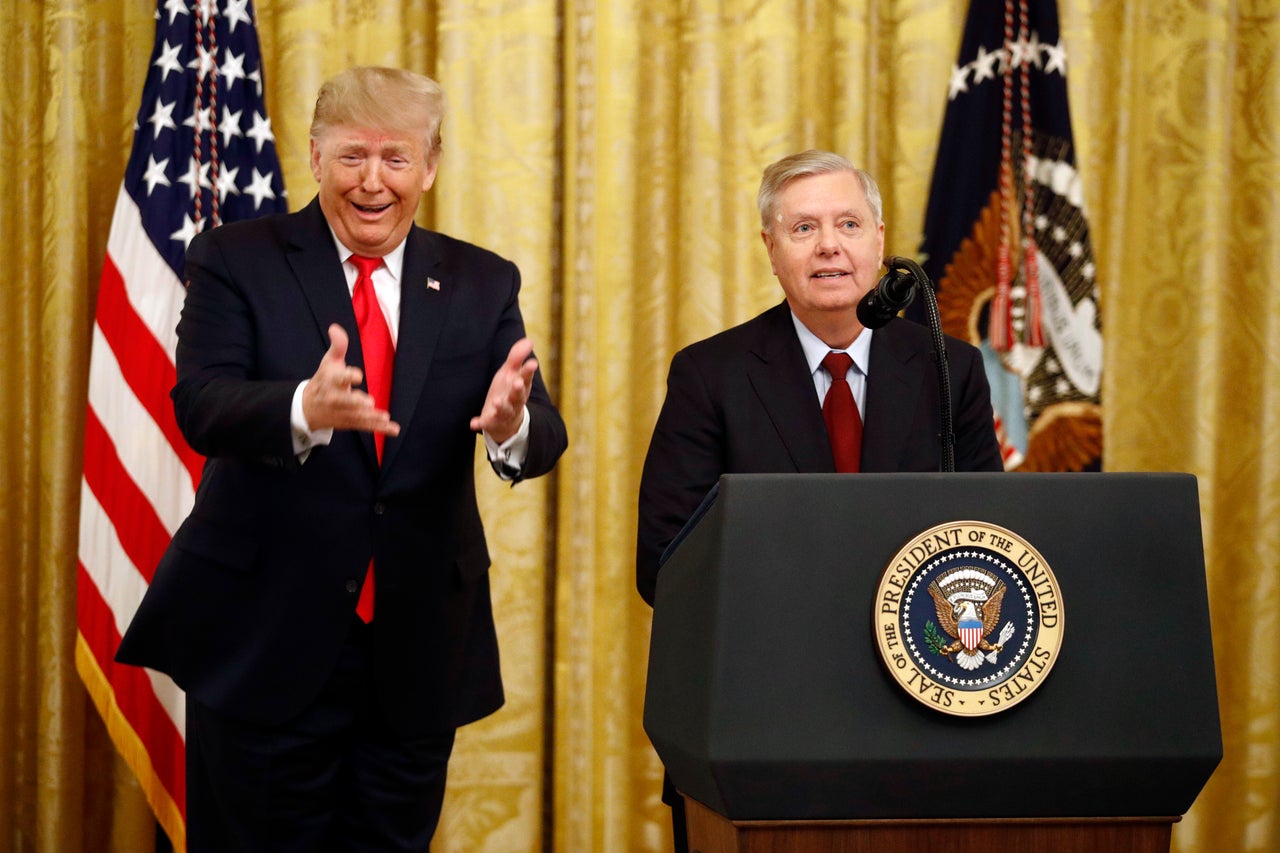
[[[428,287],[428,278],[439,289]],[[476,507],[477,415],[525,334],[513,264],[413,227],[404,251],[388,438],[335,432],[305,464],[289,407],[356,319],[316,201],[223,225],[187,252],[174,409],[207,457],[195,508],[165,552],[116,658],[168,672],[202,703],[278,724],[315,699],[376,560],[380,704],[403,734],[470,722],[503,702]],[[552,469],[564,424],[534,377],[522,476]]]

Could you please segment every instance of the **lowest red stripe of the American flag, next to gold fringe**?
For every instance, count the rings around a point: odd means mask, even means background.
[[[120,710],[123,722],[146,744],[151,770],[186,818],[186,743],[182,734],[169,717],[169,712],[156,698],[146,670],[115,662],[115,649],[120,646],[120,633],[115,629],[115,617],[110,606],[99,594],[84,564],[78,566],[77,593],[81,637],[84,638],[93,660],[111,685],[113,699]],[[104,717],[108,716],[104,708],[99,708],[99,711],[102,712]],[[142,770],[133,767],[133,772],[146,785]]]

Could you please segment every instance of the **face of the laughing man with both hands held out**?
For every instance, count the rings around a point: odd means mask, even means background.
[[[435,181],[428,154],[424,133],[335,127],[311,140],[320,209],[343,246],[381,257],[404,240]]]

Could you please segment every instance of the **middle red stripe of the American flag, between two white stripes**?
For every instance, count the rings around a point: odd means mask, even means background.
[[[111,520],[124,553],[150,584],[169,547],[169,530],[120,464],[115,443],[92,406],[84,416],[84,484]]]

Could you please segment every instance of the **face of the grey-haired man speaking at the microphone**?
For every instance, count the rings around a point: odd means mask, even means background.
[[[790,182],[762,236],[801,323],[819,329],[832,313],[847,313],[845,320],[856,324],[858,301],[876,286],[884,257],[884,225],[876,223],[858,175],[828,172]]]

